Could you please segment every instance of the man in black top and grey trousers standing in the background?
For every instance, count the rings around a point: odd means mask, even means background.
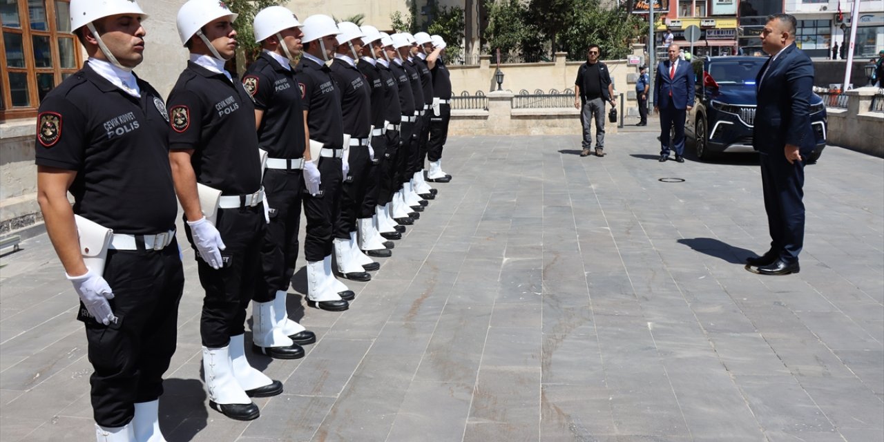
[[[580,109],[583,126],[583,151],[589,156],[592,148],[590,118],[596,121],[596,156],[605,156],[605,103],[615,104],[613,84],[607,65],[598,61],[598,44],[591,44],[586,51],[586,63],[577,70],[574,81],[574,107]]]

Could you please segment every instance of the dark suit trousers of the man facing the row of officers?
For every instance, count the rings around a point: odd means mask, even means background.
[[[789,164],[782,150],[759,157],[771,250],[796,263],[804,248],[804,162]]]

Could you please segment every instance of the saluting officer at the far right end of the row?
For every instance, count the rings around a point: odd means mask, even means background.
[[[433,117],[430,118],[430,141],[427,141],[430,171],[427,171],[427,181],[447,183],[451,181],[451,175],[442,171],[442,148],[448,139],[448,122],[451,120],[451,78],[445,65],[445,40],[438,35],[431,35],[430,39],[433,51],[439,54],[430,67],[433,74],[433,103],[438,104],[438,109],[433,109]]]

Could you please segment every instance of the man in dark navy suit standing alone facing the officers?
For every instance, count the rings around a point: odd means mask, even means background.
[[[771,57],[755,81],[758,110],[752,146],[761,154],[771,248],[746,262],[747,270],[763,275],[797,273],[804,244],[804,158],[816,143],[809,112],[813,64],[796,47],[795,31],[795,17],[774,14],[760,35],[762,48]]]

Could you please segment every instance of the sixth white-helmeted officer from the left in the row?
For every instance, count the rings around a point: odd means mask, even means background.
[[[382,240],[379,235],[376,207],[381,186],[381,162],[384,161],[386,154],[385,94],[387,91],[385,89],[389,86],[385,84],[385,80],[381,77],[381,67],[377,65],[377,59],[384,57],[381,54],[384,47],[381,45],[380,32],[377,31],[377,27],[368,25],[360,27],[360,30],[365,36],[362,37],[362,59],[357,67],[370,87],[372,158],[367,171],[365,196],[357,209],[358,245],[369,256],[386,257],[392,255],[388,248],[392,248],[393,245],[390,241]]]

